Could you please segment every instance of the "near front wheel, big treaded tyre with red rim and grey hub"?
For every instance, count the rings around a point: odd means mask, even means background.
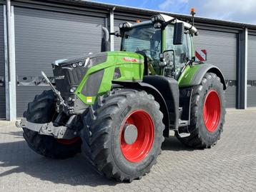
[[[159,103],[145,91],[119,89],[98,98],[84,117],[82,151],[107,178],[132,181],[156,163],[164,141]]]

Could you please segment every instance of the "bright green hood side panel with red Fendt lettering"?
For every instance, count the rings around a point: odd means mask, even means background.
[[[101,96],[109,91],[112,87],[112,80],[114,77],[114,69],[119,67],[121,72],[121,77],[119,79],[114,79],[115,81],[134,81],[142,80],[144,71],[144,57],[140,54],[135,54],[132,52],[125,51],[112,51],[107,52],[107,61],[102,64],[97,64],[92,66],[85,74],[81,83],[77,87],[75,94],[87,104],[92,104],[95,102],[97,96]],[[102,83],[99,86],[99,91],[97,96],[84,96],[82,94],[82,89],[86,84],[87,79],[90,75],[97,71],[104,69],[104,75],[102,77]]]

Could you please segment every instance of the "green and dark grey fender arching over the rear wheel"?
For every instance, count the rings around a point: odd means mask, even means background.
[[[223,89],[227,89],[222,72],[219,68],[217,68],[217,66],[212,64],[197,64],[195,66],[187,66],[182,75],[179,77],[179,87],[197,86],[201,84],[201,81],[206,73],[213,73],[220,77],[220,81],[223,84]]]

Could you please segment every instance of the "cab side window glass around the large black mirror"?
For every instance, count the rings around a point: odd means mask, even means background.
[[[174,50],[174,59],[175,59],[175,72],[179,74],[179,71],[182,69],[184,64],[191,59],[191,49],[189,49],[188,42],[191,46],[190,36],[189,34],[184,34],[183,44],[182,45],[174,45],[173,44],[173,34],[174,34],[174,26],[168,25],[166,30],[166,49],[167,50]],[[170,59],[173,56],[169,57]],[[172,59],[173,60],[173,59]],[[172,61],[173,62],[173,61]]]

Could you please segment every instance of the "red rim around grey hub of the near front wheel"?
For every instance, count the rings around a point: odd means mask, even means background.
[[[132,144],[124,140],[124,124],[132,124],[137,127],[137,139]],[[124,157],[133,163],[142,161],[154,142],[154,123],[151,116],[143,110],[133,111],[124,120],[121,128],[120,148]]]

